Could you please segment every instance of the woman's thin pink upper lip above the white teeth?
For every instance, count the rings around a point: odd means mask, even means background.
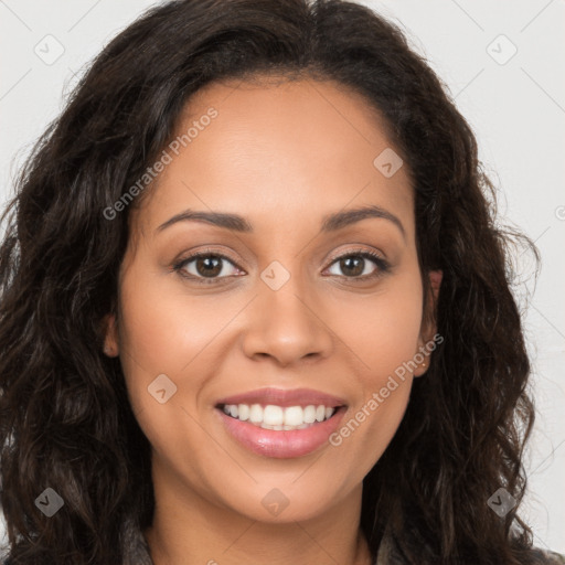
[[[225,404],[275,404],[277,406],[309,406],[322,404],[327,407],[338,407],[345,405],[345,401],[311,388],[258,388],[234,396],[226,396],[217,401],[217,405]]]

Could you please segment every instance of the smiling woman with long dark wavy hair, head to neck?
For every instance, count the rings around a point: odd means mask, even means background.
[[[518,515],[534,414],[510,236],[392,24],[327,0],[157,7],[18,188],[8,563],[561,562]]]

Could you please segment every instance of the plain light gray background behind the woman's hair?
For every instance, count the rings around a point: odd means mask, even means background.
[[[2,204],[18,166],[63,109],[62,96],[76,76],[154,3],[0,0]],[[501,220],[523,230],[541,250],[541,276],[525,317],[539,416],[526,458],[530,492],[522,516],[534,529],[536,545],[565,552],[565,1],[362,3],[399,23],[448,85],[501,190]],[[52,64],[34,52],[44,58],[56,54],[56,42],[44,39],[49,34],[64,49]],[[524,258],[527,274],[532,264]],[[534,290],[526,274],[516,287],[522,302]]]

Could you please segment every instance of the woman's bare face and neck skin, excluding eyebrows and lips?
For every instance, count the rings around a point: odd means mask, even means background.
[[[151,555],[156,565],[370,563],[359,530],[362,480],[426,366],[339,447],[298,458],[247,451],[214,406],[266,386],[309,387],[345,398],[347,423],[433,338],[423,324],[407,167],[387,179],[373,166],[391,142],[366,102],[332,83],[209,85],[179,131],[211,106],[218,116],[132,211],[120,319],[107,318],[107,354],[120,355],[153,449]],[[394,214],[405,234],[385,218],[320,232],[328,214],[361,205]],[[254,232],[179,222],[156,233],[186,209],[239,214]],[[214,284],[195,280],[205,279],[198,260],[184,266],[192,279],[171,268],[206,248],[230,258]],[[355,282],[361,275],[335,258],[360,250],[380,254],[390,271],[365,259],[359,273],[380,276]],[[290,275],[278,290],[260,278],[274,260]],[[440,274],[431,275],[437,291]],[[159,404],[148,385],[162,373],[178,390]],[[289,501],[278,515],[262,504],[274,488]]]

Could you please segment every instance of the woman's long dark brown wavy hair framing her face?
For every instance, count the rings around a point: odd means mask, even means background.
[[[134,204],[111,206],[170,142],[190,96],[214,81],[337,81],[385,118],[413,179],[425,296],[445,338],[363,481],[373,556],[392,532],[406,563],[535,563],[516,511],[534,408],[512,295],[512,245],[495,189],[448,89],[403,32],[341,0],[177,0],[119,33],[38,140],[3,215],[0,247],[1,504],[14,564],[121,563],[125,524],[150,525],[150,446],[119,359],[103,354]],[[150,188],[147,189],[149,191]],[[51,519],[35,499],[53,488]],[[487,504],[500,487],[516,505]]]

